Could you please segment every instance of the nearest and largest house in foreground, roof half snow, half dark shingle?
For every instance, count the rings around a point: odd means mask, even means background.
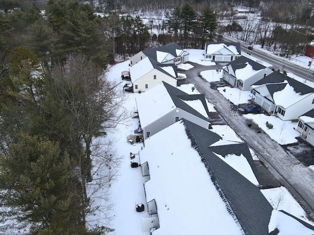
[[[275,235],[285,226],[279,217],[272,218],[275,212],[259,188],[228,164],[229,155],[241,156],[255,171],[248,146],[220,146],[220,139],[183,118],[146,140],[139,152],[149,176],[144,188],[150,218],[143,218],[143,232]],[[269,230],[272,220],[275,226]],[[298,229],[312,230],[295,221]]]

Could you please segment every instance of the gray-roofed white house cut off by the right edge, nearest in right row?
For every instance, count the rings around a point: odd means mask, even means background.
[[[299,117],[298,127],[300,137],[314,146],[314,109]]]

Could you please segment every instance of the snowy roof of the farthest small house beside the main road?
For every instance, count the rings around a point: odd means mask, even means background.
[[[221,54],[219,51],[225,50],[224,54],[241,54],[241,47],[239,43],[216,43],[216,42],[206,42],[205,49],[206,54]]]

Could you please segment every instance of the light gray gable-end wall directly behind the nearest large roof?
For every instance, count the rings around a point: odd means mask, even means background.
[[[174,109],[173,111],[171,111],[170,113],[164,115],[163,117],[157,119],[156,121],[154,121],[153,123],[145,126],[143,128],[143,136],[144,136],[144,140],[147,139],[146,137],[146,132],[150,132],[150,136],[155,135],[156,133],[158,133],[159,131],[165,129],[166,127],[170,126],[171,124],[176,122],[176,117],[179,117],[179,119],[181,118],[185,118],[186,120],[189,120],[195,124],[198,124],[199,126],[202,126],[206,129],[208,129],[209,126],[209,122],[206,120],[203,120],[201,118],[198,118],[182,109]],[[167,137],[165,137],[167,138]],[[166,141],[166,140],[165,140]]]

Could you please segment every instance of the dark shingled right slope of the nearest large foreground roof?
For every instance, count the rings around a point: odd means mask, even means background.
[[[229,213],[239,223],[245,234],[267,235],[273,208],[262,192],[212,153],[209,145],[219,137],[192,122],[184,119],[183,122],[192,147],[199,152],[210,179],[226,203]]]

